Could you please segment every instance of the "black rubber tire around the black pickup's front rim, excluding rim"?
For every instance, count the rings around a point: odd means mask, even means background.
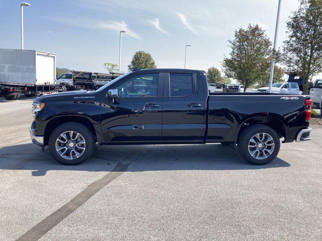
[[[81,134],[86,142],[86,149],[82,156],[76,159],[68,160],[61,157],[56,151],[56,140],[60,134],[67,131],[75,131]],[[59,163],[64,165],[78,165],[85,162],[93,154],[95,148],[95,141],[92,132],[84,125],[79,123],[66,123],[58,126],[49,137],[49,151],[52,157]]]

